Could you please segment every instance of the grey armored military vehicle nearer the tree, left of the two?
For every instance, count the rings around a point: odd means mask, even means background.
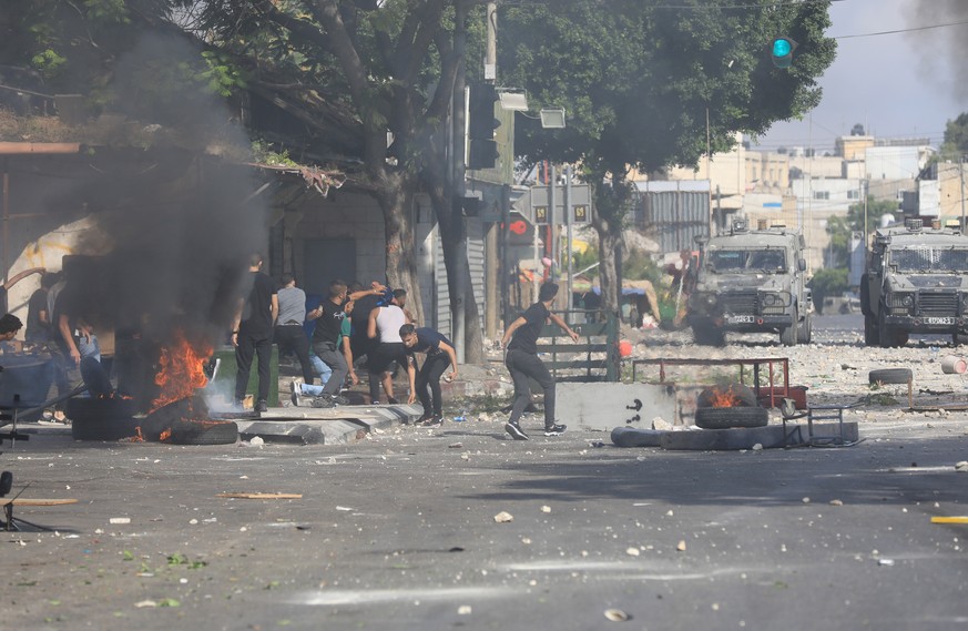
[[[699,241],[686,314],[696,344],[722,346],[726,332],[778,333],[786,346],[809,343],[813,305],[799,232],[748,230],[738,220],[727,234]]]

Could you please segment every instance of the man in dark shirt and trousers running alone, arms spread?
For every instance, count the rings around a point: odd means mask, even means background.
[[[560,326],[572,340],[578,342],[578,334],[563,319],[549,311],[557,295],[558,285],[554,283],[541,285],[541,289],[538,292],[538,302],[528,307],[521,317],[512,322],[501,338],[501,346],[508,349],[505,365],[514,381],[514,407],[511,409],[511,417],[505,425],[505,431],[510,434],[514,440],[528,440],[528,435],[518,425],[518,419],[521,418],[524,408],[531,403],[529,377],[538,381],[541,389],[544,390],[544,436],[558,436],[564,431],[563,425],[554,423],[554,378],[538,358],[538,338],[541,336],[544,323],[549,319]]]

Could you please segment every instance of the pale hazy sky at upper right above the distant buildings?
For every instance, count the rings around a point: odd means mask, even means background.
[[[968,0],[835,0],[829,37],[951,23],[968,19]],[[821,104],[802,121],[773,125],[762,149],[833,149],[856,123],[878,138],[929,138],[968,111],[968,24],[837,40],[837,59],[819,83]],[[954,59],[955,63],[947,60]],[[796,63],[794,57],[794,63]]]

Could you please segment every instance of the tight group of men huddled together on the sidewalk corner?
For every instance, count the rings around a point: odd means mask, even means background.
[[[306,293],[296,286],[292,274],[274,284],[262,271],[259,254],[249,261],[248,276],[232,327],[237,373],[235,403],[241,405],[248,388],[253,360],[257,362],[256,411],[268,407],[271,354],[276,344],[281,354],[292,354],[302,378],[292,381],[292,403],[296,406],[328,408],[349,405],[347,388],[359,384],[357,369],[365,370],[369,396],[363,401],[381,403],[380,388],[389,404],[398,403],[394,374],[407,374],[407,403],[420,400],[424,415],[417,423],[442,423],[440,378],[450,366],[449,378],[457,376],[454,345],[440,333],[417,327],[406,309],[407,293],[374,282],[369,287],[336,279],[318,306],[307,311]],[[314,323],[312,336],[306,323]],[[426,354],[419,372],[416,353]],[[319,384],[316,384],[317,378]]]

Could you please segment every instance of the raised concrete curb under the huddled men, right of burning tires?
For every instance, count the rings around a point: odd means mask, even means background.
[[[418,405],[340,406],[337,408],[269,408],[257,420],[237,420],[244,440],[289,445],[349,445],[374,429],[409,424],[424,414]]]

